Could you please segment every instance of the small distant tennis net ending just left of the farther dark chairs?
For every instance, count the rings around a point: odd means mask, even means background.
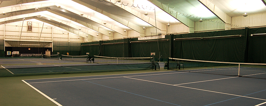
[[[64,61],[76,61],[76,62],[86,62],[88,55],[86,56],[67,56],[61,55],[62,60]]]

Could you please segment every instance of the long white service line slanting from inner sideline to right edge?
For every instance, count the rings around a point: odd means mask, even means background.
[[[125,77],[125,78],[130,78],[130,77]],[[141,79],[136,79],[136,78],[130,78],[130,79],[141,80]],[[158,83],[158,84],[165,84],[165,83],[154,82],[154,81],[149,81],[149,80],[142,80],[142,81],[153,82],[153,83]],[[172,86],[178,86],[178,87],[182,87],[182,88],[190,88],[190,89],[195,89],[195,90],[200,90],[200,91],[207,91],[207,92],[221,93],[221,94],[232,95],[232,96],[240,96],[240,97],[246,97],[246,98],[257,99],[257,100],[265,100],[265,99],[259,99],[259,98],[254,98],[254,97],[241,96],[241,95],[234,95],[234,94],[223,93],[223,92],[215,92],[215,91],[209,91],[209,90],[197,89],[197,88],[191,88],[191,87],[184,87],[184,86],[173,85],[173,84],[165,84],[165,85],[172,85]],[[266,101],[266,100],[265,100],[265,101]]]

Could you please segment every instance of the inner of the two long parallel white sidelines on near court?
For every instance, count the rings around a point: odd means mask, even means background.
[[[189,72],[178,72],[178,73],[189,73]],[[122,77],[138,77],[138,76],[151,76],[151,75],[163,75],[163,74],[173,74],[173,73],[150,74],[150,75],[137,75],[137,76],[122,76]],[[122,78],[122,77],[89,78],[89,79],[77,79],[77,80],[95,80],[95,79]],[[75,80],[57,80],[57,81],[45,81],[45,82],[32,82],[32,83],[29,83],[29,84],[33,84],[33,83],[47,83],[47,82],[61,82],[61,81],[75,81]]]

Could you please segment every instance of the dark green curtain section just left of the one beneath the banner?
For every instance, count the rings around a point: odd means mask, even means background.
[[[130,39],[119,39],[112,41],[102,41],[99,49],[99,56],[106,57],[129,57]],[[114,43],[114,44],[112,44]],[[119,44],[115,44],[119,43]]]

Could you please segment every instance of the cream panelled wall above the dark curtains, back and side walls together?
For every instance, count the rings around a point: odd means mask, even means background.
[[[231,20],[232,25],[238,25],[241,27],[253,27],[253,26],[266,26],[266,13],[261,14],[250,14],[247,17],[238,16],[229,18]],[[166,25],[158,24],[161,30],[157,29],[157,33],[190,33],[196,31],[215,31],[215,30],[227,30],[230,27],[225,24],[221,24],[218,19],[203,22],[195,22],[194,28],[189,28],[183,24],[175,24],[167,27]],[[218,22],[217,22],[218,21]],[[6,41],[41,41],[41,42],[91,42],[91,41],[101,41],[101,40],[113,40],[113,39],[121,39],[127,37],[144,37],[148,35],[154,35],[152,33],[156,33],[156,28],[146,28],[143,30],[141,27],[140,32],[126,31],[119,33],[112,33],[109,35],[102,35],[99,33],[99,36],[84,36],[78,38],[77,35],[73,33],[67,33],[67,31],[63,31],[60,28],[52,28],[49,26],[44,26],[42,30],[42,24],[32,22],[32,31],[27,30],[27,21],[24,21],[22,28],[22,22],[14,22],[0,25],[0,40]],[[17,26],[16,26],[17,25]],[[47,28],[46,28],[47,27]],[[226,27],[226,28],[225,28]],[[22,29],[22,32],[21,32]],[[64,33],[63,33],[64,32]],[[90,34],[90,33],[89,33]],[[20,36],[21,35],[21,36]],[[41,35],[41,37],[40,37]],[[95,35],[93,33],[92,35]]]

